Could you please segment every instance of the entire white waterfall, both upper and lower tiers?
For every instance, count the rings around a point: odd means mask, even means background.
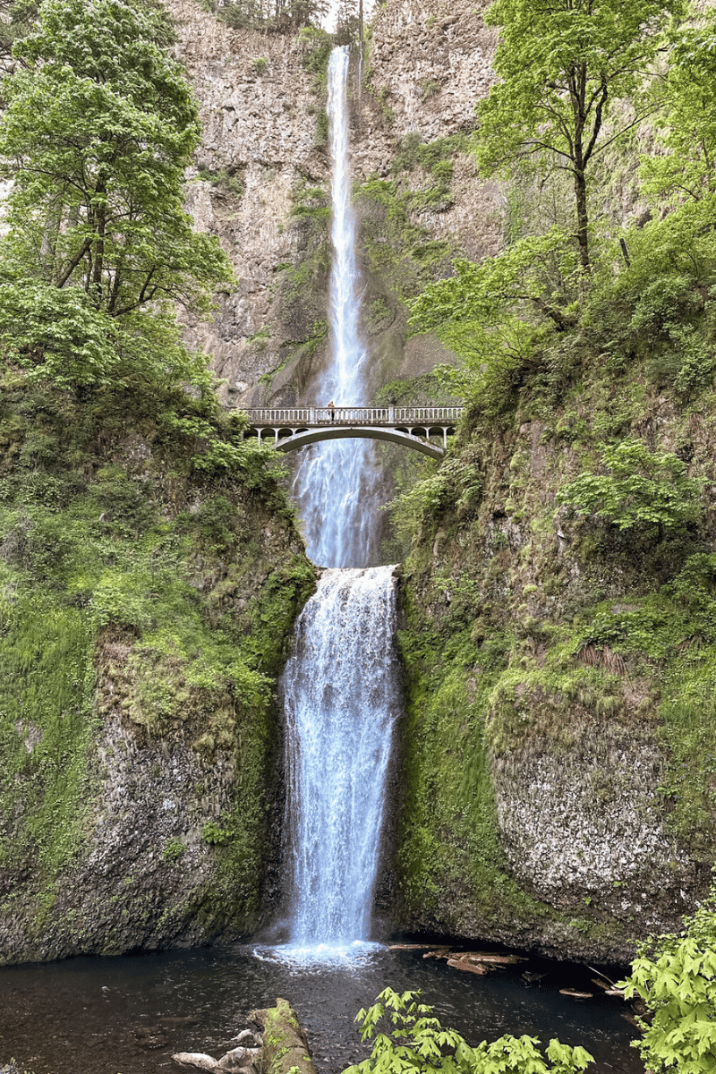
[[[351,207],[349,49],[328,64],[333,247],[332,362],[315,398],[365,396]],[[393,567],[376,555],[376,465],[366,440],[306,452],[293,485],[307,549],[322,571],[282,678],[287,723],[289,957],[325,961],[370,937],[393,724],[399,711]],[[301,954],[296,954],[299,952]]]

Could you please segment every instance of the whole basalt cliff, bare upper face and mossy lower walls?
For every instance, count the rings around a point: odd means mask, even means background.
[[[433,369],[453,355],[410,334],[409,300],[454,258],[502,249],[515,205],[541,211],[539,183],[485,180],[470,153],[494,77],[485,6],[383,4],[355,52],[374,400],[444,397]],[[188,205],[238,280],[186,338],[214,355],[228,409],[311,402],[328,346],[331,42],[233,30],[193,0],[166,8],[204,127]],[[622,221],[645,213],[629,182],[607,177],[603,199]],[[493,412],[472,406],[437,470],[382,456],[386,495],[427,479],[385,538],[385,562],[404,561],[406,686],[378,891],[389,928],[625,962],[707,889],[713,374],[680,395],[643,319],[624,314],[633,328],[615,346],[607,317],[512,371]],[[5,402],[3,476],[21,462],[36,480],[38,430]],[[53,405],[44,431],[67,446],[76,421]],[[634,537],[559,499],[617,434],[701,481],[692,525]],[[265,478],[198,482],[146,419],[97,430],[92,451],[91,482],[56,476],[59,516],[13,511],[1,535],[5,592],[23,594],[3,612],[6,962],[237,935],[277,901],[274,686],[315,577],[291,512]]]

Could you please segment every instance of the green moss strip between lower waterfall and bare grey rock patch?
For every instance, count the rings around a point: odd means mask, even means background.
[[[453,579],[451,603],[458,590]],[[507,688],[514,639],[494,636],[479,648],[473,625],[459,624],[459,613],[450,625],[430,628],[407,599],[397,855],[404,918],[439,921],[455,932],[474,928],[476,920],[485,930],[553,921],[596,937],[600,923],[572,921],[525,891],[500,845],[491,759],[495,728],[487,713],[495,692]]]

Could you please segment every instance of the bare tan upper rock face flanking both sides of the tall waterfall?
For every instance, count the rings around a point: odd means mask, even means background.
[[[354,60],[359,183],[390,177],[407,136],[433,142],[474,126],[476,104],[492,77],[494,32],[480,14],[486,3],[438,6],[406,0],[381,8],[365,60]],[[187,325],[187,338],[214,354],[230,406],[308,401],[326,346],[328,218],[305,212],[328,198],[325,93],[316,75],[317,64],[320,73],[327,60],[325,41],[309,33],[234,31],[193,0],[166,0],[166,8],[204,127],[188,206],[198,227],[220,236],[238,279],[220,297],[213,325]],[[410,182],[420,187],[422,180]],[[415,206],[410,218],[427,241],[449,241],[456,251],[480,257],[499,247],[502,215],[498,186],[479,183],[471,158],[455,150],[450,204]],[[394,291],[395,285],[378,285],[379,292],[384,288]],[[395,348],[403,353],[405,331],[396,342],[391,325],[380,324],[369,336],[379,387],[400,371]],[[419,351],[413,346],[403,375],[426,372],[444,358],[439,347]]]

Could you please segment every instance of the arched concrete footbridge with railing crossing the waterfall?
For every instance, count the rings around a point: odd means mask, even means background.
[[[255,436],[278,451],[297,451],[318,440],[362,437],[392,440],[433,459],[442,459],[448,437],[455,432],[459,406],[307,406],[287,409],[246,410],[249,427],[244,437]],[[436,442],[437,441],[437,442]]]

